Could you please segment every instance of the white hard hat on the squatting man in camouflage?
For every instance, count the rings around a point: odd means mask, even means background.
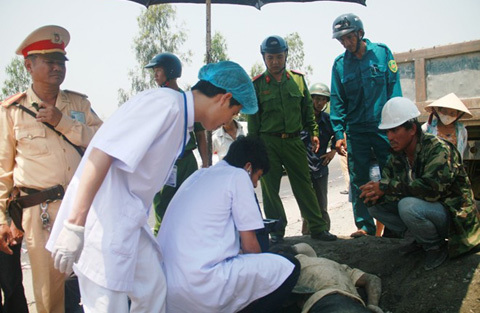
[[[379,129],[392,129],[420,115],[415,103],[404,97],[395,97],[387,101],[382,110]]]

